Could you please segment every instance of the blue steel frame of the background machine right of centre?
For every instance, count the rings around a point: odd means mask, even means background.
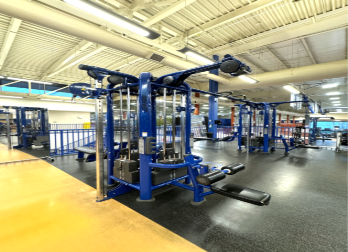
[[[261,147],[255,147],[255,146],[249,146],[249,153],[253,152],[256,149],[262,149],[263,153],[269,153],[269,149],[284,149],[285,150],[285,154],[288,154],[290,150],[293,150],[295,148],[297,148],[293,142],[293,138],[290,138],[290,146],[287,143],[285,137],[283,135],[280,136],[276,136],[275,133],[275,129],[276,129],[276,107],[284,104],[284,103],[307,103],[309,102],[308,100],[304,100],[304,101],[290,101],[290,102],[274,102],[274,103],[256,103],[256,104],[238,104],[236,105],[237,107],[239,107],[239,126],[238,126],[238,150],[242,150],[242,147],[247,148],[246,145],[242,145],[242,135],[243,134],[243,120],[242,117],[244,114],[249,114],[249,115],[253,115],[254,113],[256,113],[256,111],[258,110],[263,110],[264,113],[264,118],[263,118],[263,145]],[[270,114],[270,111],[272,109],[272,115]],[[271,120],[271,124],[269,124],[269,119],[270,117],[273,118],[273,120]],[[252,117],[250,117],[250,121],[249,121],[249,126],[251,126],[252,122]],[[249,137],[251,137],[251,130],[249,131],[250,135]],[[281,140],[284,144],[284,148],[280,148],[280,147],[275,147],[275,145],[269,146],[269,140]],[[292,147],[292,148],[290,148]]]

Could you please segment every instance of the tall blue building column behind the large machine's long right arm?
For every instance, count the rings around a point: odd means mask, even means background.
[[[219,61],[218,55],[213,55],[213,60]],[[219,69],[210,70],[209,73],[219,75]],[[209,92],[217,93],[219,90],[219,83],[217,81],[209,80]],[[209,118],[208,118],[208,132],[213,132],[213,137],[216,138],[217,128],[215,120],[217,120],[218,103],[217,98],[209,97]]]

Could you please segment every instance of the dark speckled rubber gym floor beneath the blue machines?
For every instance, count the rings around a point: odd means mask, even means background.
[[[205,162],[245,164],[244,171],[224,181],[270,193],[269,206],[212,194],[206,204],[194,207],[189,203],[193,193],[175,186],[154,191],[154,203],[137,203],[136,190],[114,199],[208,252],[348,251],[348,151],[247,154],[236,144],[199,141],[193,153]],[[57,157],[52,164],[95,187],[95,163],[75,158]]]

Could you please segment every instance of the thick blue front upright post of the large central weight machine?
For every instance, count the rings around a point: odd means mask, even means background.
[[[153,108],[151,99],[151,73],[141,73],[139,76],[139,136],[142,137],[139,141],[143,141],[144,145],[146,138],[152,135],[153,127]],[[140,144],[142,145],[142,144]],[[140,197],[138,202],[153,202],[152,197],[152,174],[149,163],[152,159],[152,154],[147,154],[146,148],[139,149],[140,151]]]

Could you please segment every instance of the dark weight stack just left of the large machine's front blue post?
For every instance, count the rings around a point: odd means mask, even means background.
[[[140,174],[137,161],[116,159],[113,174],[116,178],[122,179],[128,183],[138,183]]]

